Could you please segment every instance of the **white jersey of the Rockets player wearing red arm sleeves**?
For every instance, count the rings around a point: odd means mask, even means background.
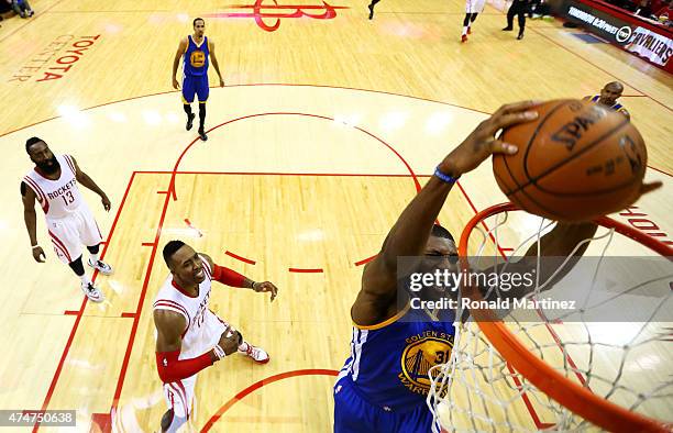
[[[169,275],[154,300],[154,310],[174,311],[187,321],[178,359],[195,358],[210,351],[227,329],[227,324],[208,308],[212,270],[206,258],[199,257],[203,262],[206,279],[199,285],[199,293],[195,298],[186,295]]]

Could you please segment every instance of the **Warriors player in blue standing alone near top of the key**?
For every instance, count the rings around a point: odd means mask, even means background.
[[[206,21],[202,18],[194,20],[194,35],[188,35],[180,41],[178,49],[173,60],[173,88],[179,89],[176,77],[180,57],[183,62],[183,108],[187,113],[187,131],[191,130],[195,114],[191,112],[194,96],[199,98],[199,136],[202,141],[208,140],[205,131],[206,122],[206,100],[210,88],[208,87],[208,65],[209,57],[212,58],[212,66],[220,78],[220,87],[224,87],[220,65],[214,54],[214,42],[212,38],[203,36],[206,32]]]

